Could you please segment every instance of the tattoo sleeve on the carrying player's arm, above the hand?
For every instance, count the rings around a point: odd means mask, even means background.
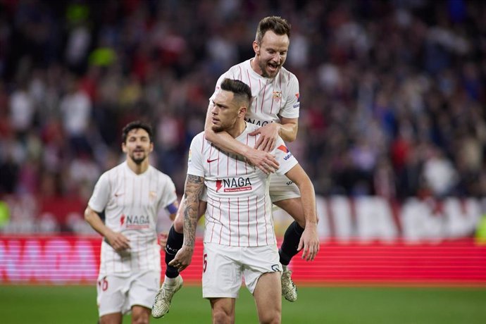
[[[194,247],[199,212],[199,197],[204,189],[204,177],[187,175],[185,184],[184,244]]]

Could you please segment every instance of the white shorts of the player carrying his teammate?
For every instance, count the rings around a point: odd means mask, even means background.
[[[282,272],[276,244],[228,247],[204,243],[203,298],[238,298],[242,279],[253,294],[264,273]]]

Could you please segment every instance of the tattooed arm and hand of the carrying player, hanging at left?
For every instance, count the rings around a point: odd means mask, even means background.
[[[182,271],[191,264],[194,244],[196,242],[196,226],[199,216],[199,197],[204,189],[204,177],[187,175],[185,183],[185,206],[184,206],[184,244],[177,251],[169,266]]]

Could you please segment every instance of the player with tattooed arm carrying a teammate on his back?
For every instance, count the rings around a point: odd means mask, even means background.
[[[251,89],[239,80],[225,79],[214,96],[212,129],[227,132],[237,141],[254,145],[258,126],[244,121]],[[311,180],[280,137],[271,151],[279,167],[301,192],[301,208],[316,223],[316,197]],[[273,228],[270,175],[237,154],[214,146],[204,132],[194,137],[185,183],[184,245],[170,266],[184,270],[192,259],[199,198],[207,188],[204,229],[203,297],[211,302],[213,323],[235,323],[235,299],[244,278],[253,294],[260,323],[280,323],[281,265]],[[314,258],[318,245],[304,250]]]

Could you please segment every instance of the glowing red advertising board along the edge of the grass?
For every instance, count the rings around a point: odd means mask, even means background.
[[[0,237],[0,283],[94,285],[100,244],[100,237]],[[292,278],[299,283],[486,285],[486,245],[473,239],[421,244],[328,240],[315,261],[299,256],[291,263]],[[199,283],[201,271],[199,240],[182,275],[186,282]]]

